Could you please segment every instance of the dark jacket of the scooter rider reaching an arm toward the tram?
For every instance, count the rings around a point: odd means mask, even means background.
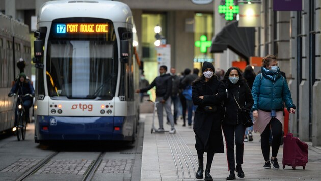
[[[163,74],[161,76],[156,77],[149,86],[140,89],[140,92],[147,92],[154,86],[156,86],[156,96],[163,97],[163,99],[166,101],[172,94],[171,74]]]

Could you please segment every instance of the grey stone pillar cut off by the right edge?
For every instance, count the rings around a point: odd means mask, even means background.
[[[321,29],[321,0],[315,1],[315,30],[320,31]],[[317,81],[313,85],[313,119],[312,119],[312,145],[321,146],[321,34],[315,35],[315,79]]]

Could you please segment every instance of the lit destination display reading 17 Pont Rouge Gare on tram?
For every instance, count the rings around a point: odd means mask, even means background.
[[[59,23],[54,28],[57,34],[108,33],[108,24],[106,23]]]

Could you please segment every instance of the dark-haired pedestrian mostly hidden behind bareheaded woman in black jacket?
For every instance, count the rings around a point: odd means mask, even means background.
[[[247,65],[245,67],[245,69],[244,69],[243,77],[246,80],[246,83],[248,84],[248,86],[250,87],[250,90],[252,90],[252,86],[253,86],[253,82],[254,82],[255,76],[256,76],[256,74],[255,74],[252,66],[251,65]],[[252,112],[251,112],[250,116],[251,116],[251,118],[253,120]],[[245,129],[244,142],[253,141],[252,132],[253,132],[253,126],[248,127],[248,128]]]

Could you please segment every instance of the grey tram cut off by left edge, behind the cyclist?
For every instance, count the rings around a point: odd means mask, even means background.
[[[0,27],[0,133],[4,133],[14,128],[15,99],[8,93],[20,73],[16,63],[23,58],[24,73],[31,76],[31,49],[27,25],[0,13]]]

